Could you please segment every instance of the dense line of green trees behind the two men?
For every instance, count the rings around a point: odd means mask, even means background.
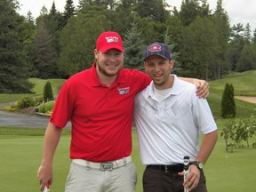
[[[124,68],[142,67],[147,44],[172,49],[175,73],[205,80],[229,71],[256,69],[256,29],[230,26],[218,0],[183,0],[180,9],[164,0],[67,0],[63,12],[42,7],[34,19],[20,15],[19,1],[0,1],[0,93],[31,92],[29,77],[68,78],[92,67],[96,39],[103,31],[124,40]]]

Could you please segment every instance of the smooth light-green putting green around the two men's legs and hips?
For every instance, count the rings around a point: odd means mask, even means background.
[[[1,127],[0,127],[1,129]],[[136,131],[132,131],[132,159],[138,170],[136,192],[142,192],[141,178],[144,167],[140,164]],[[54,158],[54,180],[51,192],[63,192],[69,168],[70,135],[62,135]],[[39,191],[36,171],[41,162],[43,136],[0,137],[1,191]],[[237,148],[225,151],[223,138],[219,137],[212,156],[204,166],[209,192],[254,192],[255,148]]]

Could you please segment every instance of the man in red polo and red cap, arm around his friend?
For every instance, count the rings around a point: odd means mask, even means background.
[[[133,101],[151,79],[138,70],[123,68],[123,42],[116,32],[99,36],[94,56],[92,68],[71,76],[61,87],[37,171],[41,191],[48,181],[52,184],[53,156],[61,129],[69,119],[72,161],[65,191],[135,191],[137,172],[131,158]],[[208,84],[195,84],[200,87],[197,93],[205,97]]]

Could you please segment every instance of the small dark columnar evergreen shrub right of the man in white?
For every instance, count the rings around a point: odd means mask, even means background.
[[[226,84],[221,100],[222,118],[236,117],[236,103],[234,99],[234,87],[232,84]]]

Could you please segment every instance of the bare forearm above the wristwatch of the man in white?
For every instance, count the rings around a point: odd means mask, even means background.
[[[196,161],[205,163],[207,158],[211,155],[212,149],[214,148],[218,139],[218,132],[214,131],[209,134],[204,135],[204,139],[201,143],[201,147],[198,155],[196,156]]]

